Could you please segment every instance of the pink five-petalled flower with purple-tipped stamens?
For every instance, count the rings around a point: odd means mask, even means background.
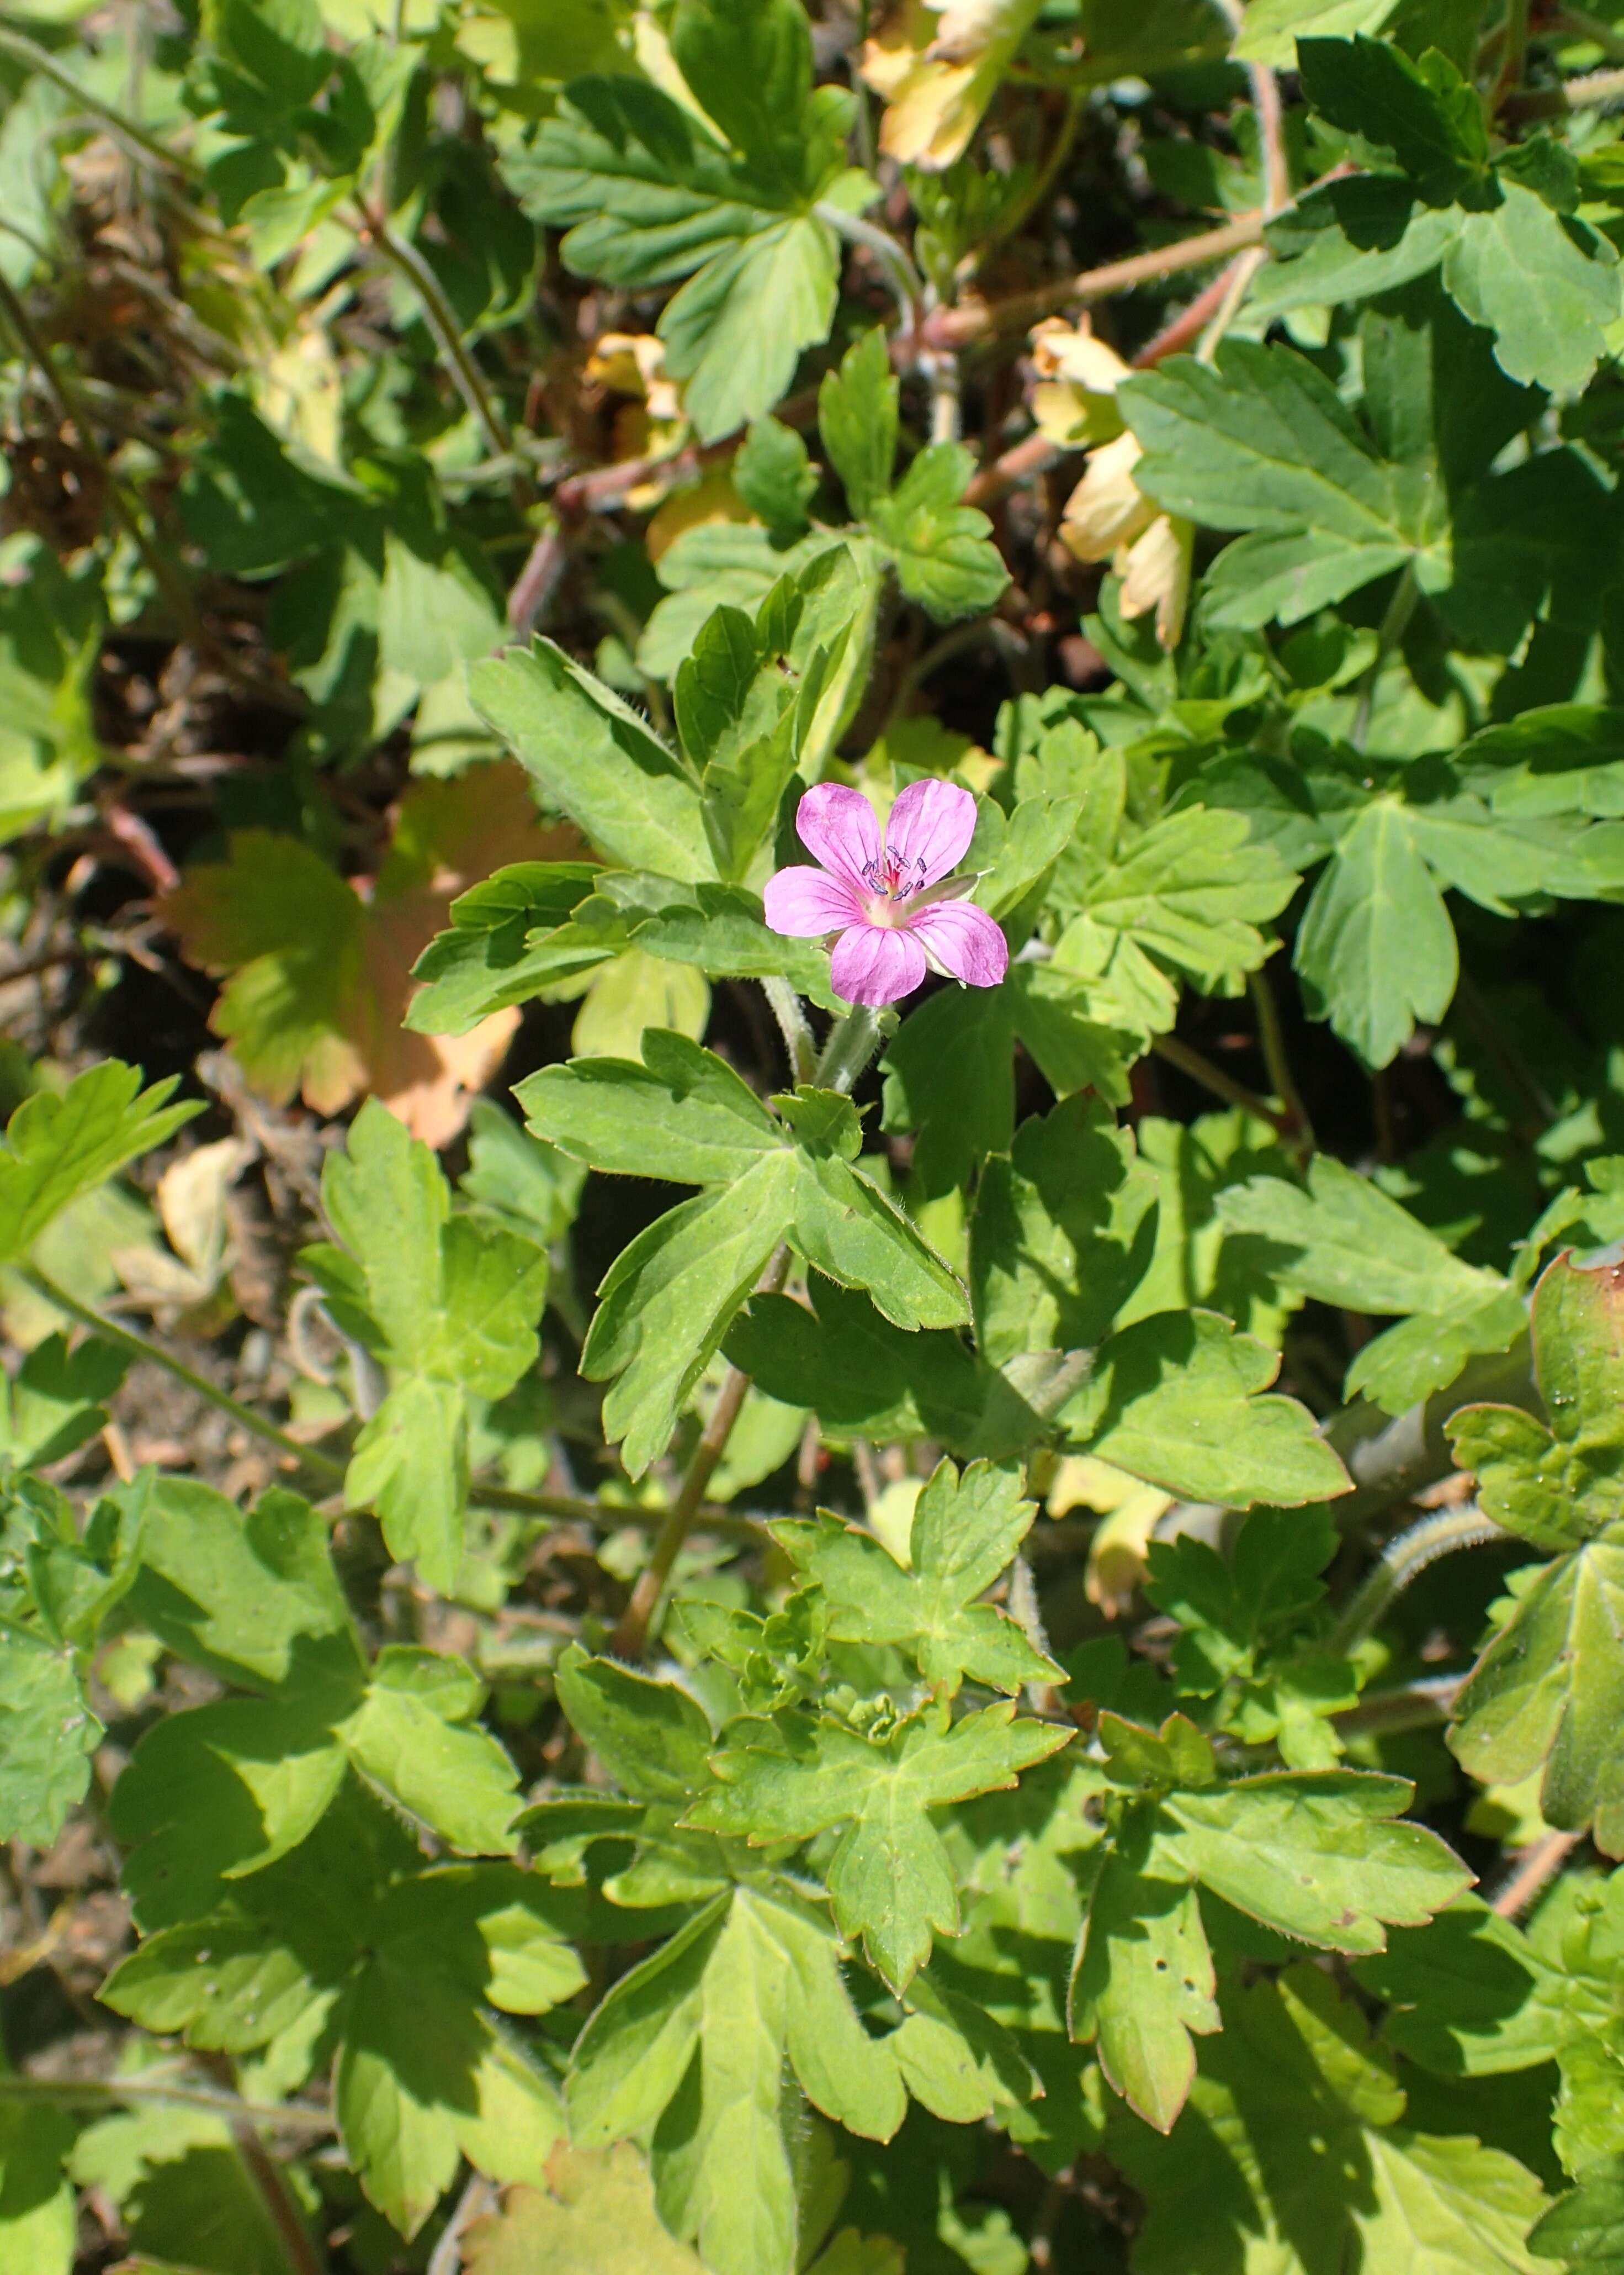
[[[964,899],[973,878],[953,876],[976,833],[976,801],[955,783],[910,783],[880,837],[860,789],[819,783],[796,812],[817,869],[780,869],[767,880],[776,933],[839,935],[830,983],[846,1003],[896,1003],[926,969],[969,987],[996,987],[1010,965],[1003,933]]]

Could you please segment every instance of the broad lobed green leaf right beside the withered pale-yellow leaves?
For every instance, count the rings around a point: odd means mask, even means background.
[[[1246,530],[1210,578],[1212,623],[1299,623],[1415,562],[1442,582],[1440,505],[1419,466],[1376,455],[1335,387],[1292,348],[1231,341],[1171,357],[1117,403],[1144,444],[1133,480],[1174,514]]]

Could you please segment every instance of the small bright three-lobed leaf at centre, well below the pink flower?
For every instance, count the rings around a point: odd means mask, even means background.
[[[905,1645],[946,1697],[960,1681],[1014,1693],[1058,1681],[1060,1670],[1005,1611],[976,1597],[1017,1554],[1033,1515],[1014,1472],[978,1461],[960,1479],[944,1461],[919,1495],[908,1570],[873,1533],[837,1517],[776,1524],[773,1538],[803,1583],[823,1592],[835,1643]]]

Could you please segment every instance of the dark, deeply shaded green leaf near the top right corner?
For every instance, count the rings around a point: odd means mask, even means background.
[[[1435,48],[1412,64],[1387,41],[1296,41],[1303,93],[1331,125],[1383,143],[1428,205],[1447,205],[1488,175],[1476,89]]]

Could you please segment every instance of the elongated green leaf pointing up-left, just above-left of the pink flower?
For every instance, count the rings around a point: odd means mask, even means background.
[[[607,860],[680,883],[714,878],[689,769],[550,639],[475,664],[469,694],[541,799]]]

